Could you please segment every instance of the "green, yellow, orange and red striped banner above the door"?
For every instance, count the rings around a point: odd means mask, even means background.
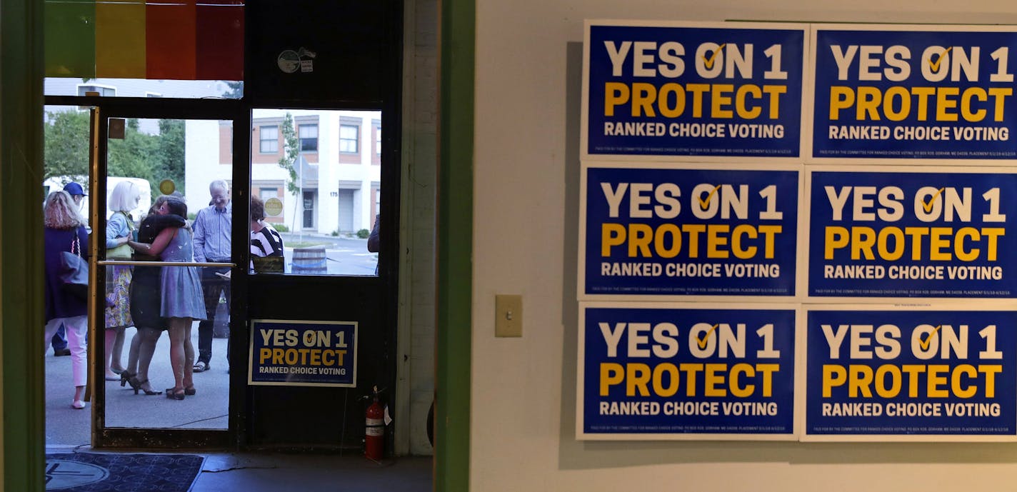
[[[48,77],[244,77],[244,0],[47,0],[44,15]]]

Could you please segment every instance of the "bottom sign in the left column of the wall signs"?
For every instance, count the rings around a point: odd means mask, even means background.
[[[793,438],[793,309],[581,312],[581,438]]]

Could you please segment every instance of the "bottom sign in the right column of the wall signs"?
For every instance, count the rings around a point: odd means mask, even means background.
[[[806,436],[1017,435],[1017,313],[866,308],[806,318]]]

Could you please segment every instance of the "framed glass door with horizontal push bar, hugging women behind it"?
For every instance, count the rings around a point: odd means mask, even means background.
[[[235,441],[233,233],[247,221],[232,214],[234,118],[180,110],[99,109],[89,343],[99,447]]]

